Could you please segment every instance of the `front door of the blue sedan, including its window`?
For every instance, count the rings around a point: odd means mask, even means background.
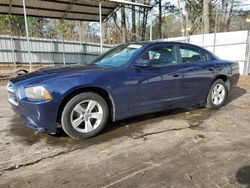
[[[130,111],[150,112],[175,105],[182,96],[175,46],[153,46],[138,60],[150,60],[151,66],[131,68]]]

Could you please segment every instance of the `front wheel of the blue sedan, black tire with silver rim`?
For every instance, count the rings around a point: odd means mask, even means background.
[[[89,138],[99,134],[108,122],[106,101],[96,93],[84,92],[73,97],[64,107],[63,130],[73,138]]]

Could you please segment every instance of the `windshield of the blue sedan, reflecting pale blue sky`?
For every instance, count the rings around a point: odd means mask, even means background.
[[[92,63],[101,66],[120,67],[127,63],[130,57],[140,48],[142,48],[140,44],[124,44],[110,50]]]

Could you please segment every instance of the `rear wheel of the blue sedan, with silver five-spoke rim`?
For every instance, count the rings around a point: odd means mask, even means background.
[[[220,108],[225,104],[225,101],[228,96],[228,88],[226,83],[221,80],[217,79],[213,82],[208,96],[207,96],[207,108]]]

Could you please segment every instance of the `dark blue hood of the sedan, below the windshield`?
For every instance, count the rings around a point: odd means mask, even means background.
[[[36,71],[24,74],[22,76],[18,76],[16,78],[12,78],[10,81],[15,83],[38,77],[39,79],[44,80],[46,78],[48,79],[51,77],[55,77],[56,75],[69,75],[81,72],[97,71],[102,69],[105,68],[96,65],[70,65],[62,67],[48,67],[48,68],[38,69]]]

